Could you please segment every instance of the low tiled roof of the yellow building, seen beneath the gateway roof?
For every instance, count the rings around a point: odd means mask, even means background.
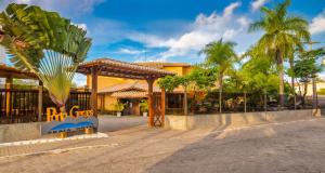
[[[99,90],[99,93],[113,93],[113,92],[129,91],[129,90],[147,92],[148,85],[146,82],[141,82],[141,81],[128,82],[128,83],[110,85],[108,88]],[[154,85],[153,91],[160,92],[160,89]]]

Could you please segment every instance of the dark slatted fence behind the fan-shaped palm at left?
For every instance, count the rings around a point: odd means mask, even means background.
[[[90,92],[72,91],[66,104],[67,110],[78,105],[80,109],[90,109]],[[0,89],[0,123],[24,123],[38,121],[38,90]],[[49,93],[42,93],[42,117],[46,120],[46,109],[56,107]]]

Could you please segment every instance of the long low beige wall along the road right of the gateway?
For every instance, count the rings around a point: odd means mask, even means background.
[[[203,128],[231,129],[272,122],[286,122],[321,117],[320,109],[283,110],[197,116],[166,116],[166,128],[190,130]]]

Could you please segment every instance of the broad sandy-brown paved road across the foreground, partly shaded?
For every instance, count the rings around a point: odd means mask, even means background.
[[[108,138],[47,146],[66,149],[61,152],[1,158],[0,172],[325,172],[325,119],[226,131],[142,125],[107,133]]]

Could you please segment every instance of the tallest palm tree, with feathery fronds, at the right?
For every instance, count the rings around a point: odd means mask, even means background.
[[[278,68],[280,103],[284,106],[284,58],[288,57],[291,48],[302,46],[303,40],[310,40],[308,22],[301,17],[289,16],[287,9],[290,0],[285,0],[274,9],[261,8],[262,18],[250,25],[249,31],[263,30],[264,34],[255,49],[272,57]]]

